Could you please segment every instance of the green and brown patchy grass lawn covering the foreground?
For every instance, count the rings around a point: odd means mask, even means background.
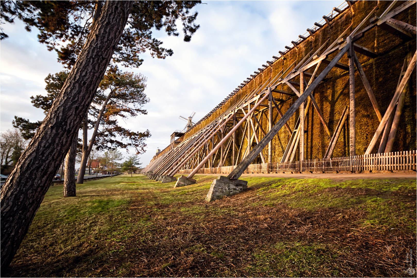
[[[121,175],[52,186],[2,277],[412,277],[416,180],[246,177],[197,184]],[[415,277],[415,275],[414,275]]]

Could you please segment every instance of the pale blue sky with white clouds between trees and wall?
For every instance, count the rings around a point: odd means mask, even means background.
[[[148,78],[144,106],[147,115],[120,120],[132,131],[149,130],[146,153],[139,155],[147,165],[156,149],[166,148],[174,130],[181,130],[195,112],[197,122],[298,35],[322,20],[343,1],[204,1],[193,8],[201,27],[191,38],[168,36],[155,30],[164,48],[174,54],[166,59],[141,56],[139,68],[124,70],[142,73]],[[63,70],[54,51],[38,43],[38,30],[24,25],[3,24],[8,39],[0,43],[0,131],[12,126],[14,116],[43,120],[43,110],[30,103],[30,96],[45,95],[45,77]],[[181,30],[181,25],[178,26]],[[79,134],[81,138],[81,133]],[[127,156],[135,153],[121,150]],[[76,165],[79,167],[79,165]]]

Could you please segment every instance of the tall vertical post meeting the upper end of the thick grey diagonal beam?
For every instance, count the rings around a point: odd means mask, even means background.
[[[349,58],[349,150],[350,155],[356,155],[356,133],[355,133],[355,53],[352,38],[347,38],[350,48],[347,51]]]

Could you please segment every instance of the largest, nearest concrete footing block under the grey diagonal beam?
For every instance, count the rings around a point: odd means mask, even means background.
[[[244,180],[230,180],[225,176],[219,176],[219,178],[213,180],[210,190],[208,190],[206,201],[211,202],[223,198],[224,196],[230,196],[242,192],[248,188],[248,182]]]

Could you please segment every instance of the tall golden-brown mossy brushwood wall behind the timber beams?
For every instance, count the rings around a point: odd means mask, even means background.
[[[401,5],[405,1],[399,1],[394,8]],[[307,55],[311,49],[317,50],[328,39],[326,49],[339,35],[346,30],[352,23],[352,27],[348,31],[351,33],[354,28],[365,18],[377,5],[377,1],[357,1],[354,3],[354,14],[350,9],[346,9],[337,16],[331,22],[331,26],[324,25],[315,34],[314,37],[309,37],[304,40],[297,48],[293,48],[287,52],[283,58],[280,58],[274,62],[274,64],[266,68],[262,73],[256,76],[251,82],[245,85],[242,90],[239,90],[231,99],[229,99],[221,108],[215,111],[208,119],[201,122],[192,130],[184,135],[184,138],[194,134],[199,129],[206,126],[211,121],[215,120],[222,113],[229,110],[230,107],[236,105],[245,95],[250,94],[259,85],[269,81],[272,77],[275,77],[281,70],[285,70],[291,65],[294,60],[299,63],[301,59]],[[375,11],[374,15],[380,15],[388,7],[391,1],[379,1],[379,9]],[[372,15],[372,16],[374,16]],[[407,22],[412,25],[416,25],[416,5],[413,5],[408,10],[400,13],[395,17],[397,20]],[[362,28],[369,25],[369,22],[365,23]],[[361,28],[361,29],[362,29]],[[296,34],[294,34],[294,37]],[[346,35],[344,36],[346,38]],[[416,51],[416,39],[402,40],[391,33],[388,33],[381,28],[373,28],[369,30],[363,38],[356,42],[370,50],[377,52],[379,55],[377,58],[369,58],[365,55],[357,53],[359,61],[361,62],[367,79],[374,91],[374,95],[381,108],[381,113],[384,115],[392,96],[394,95],[395,88],[397,86],[401,67],[403,65],[404,58],[407,53],[412,55]],[[323,52],[320,52],[320,54]],[[313,52],[314,52],[313,51]],[[271,53],[274,54],[274,53]],[[334,53],[329,56],[332,59]],[[340,63],[348,64],[347,55],[344,55],[339,61]],[[322,64],[319,68],[319,72],[325,68],[325,64]],[[308,70],[312,73],[314,67]],[[308,80],[308,79],[307,79]],[[416,146],[416,70],[414,69],[410,78],[410,85],[405,97],[405,104],[403,113],[400,120],[399,129],[395,138],[395,144],[393,151],[401,150],[415,150]],[[297,77],[296,81],[299,79]],[[298,87],[296,87],[298,89]],[[277,89],[291,91],[286,85],[280,85]],[[379,125],[377,115],[369,100],[367,91],[364,88],[359,74],[355,72],[355,93],[356,93],[356,153],[358,155],[363,154],[372,139],[375,130]],[[279,98],[282,101],[279,102],[279,106],[283,113],[295,102],[296,97],[291,97],[284,94],[274,93],[275,98]],[[326,77],[326,80],[319,84],[314,90],[314,97],[321,108],[324,118],[328,123],[330,131],[333,133],[339,118],[342,115],[344,107],[349,105],[349,72],[343,69],[334,68]],[[268,131],[267,110],[265,110],[261,123]],[[288,121],[291,129],[294,129],[295,122],[299,116],[299,112],[296,112]],[[279,115],[274,109],[273,113],[274,123],[279,120]],[[243,125],[242,125],[243,127]],[[317,112],[314,110],[313,105],[310,105],[309,112],[305,121],[305,159],[323,158],[324,153],[329,145],[330,136],[326,133]],[[336,148],[334,149],[333,156],[347,156],[349,155],[349,118],[347,119],[342,133],[340,134]],[[263,137],[259,131],[259,137]],[[241,131],[237,132],[236,143],[240,143],[242,138]],[[282,158],[284,150],[289,142],[290,135],[285,127],[281,128],[279,133],[272,140],[272,162],[279,162]],[[246,140],[245,140],[246,141]],[[255,144],[254,140],[254,144]],[[244,143],[246,144],[246,143]],[[245,146],[243,145],[240,156],[243,155]],[[373,153],[377,151],[379,142],[373,150]],[[263,151],[265,157],[268,155],[268,147]],[[236,150],[237,153],[237,150]],[[298,160],[299,154],[296,159]],[[240,160],[239,160],[240,161]],[[253,163],[261,163],[261,158],[258,156]],[[215,163],[216,164],[216,163]],[[229,159],[226,165],[231,165],[231,152],[229,153]]]

